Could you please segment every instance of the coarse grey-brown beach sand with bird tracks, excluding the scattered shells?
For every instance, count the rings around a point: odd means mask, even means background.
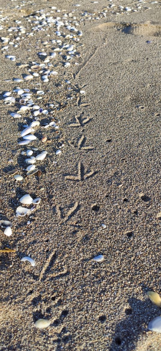
[[[85,10],[102,11],[109,2],[80,1],[78,8],[74,0],[58,5],[57,1],[27,2],[24,12],[15,9],[17,4],[21,3],[0,2],[11,25],[41,8],[45,13],[51,6],[63,13],[75,9],[77,16]],[[136,8],[138,2],[115,4]],[[14,223],[11,237],[1,231],[1,248],[16,249],[13,254],[0,254],[1,350],[161,349],[160,334],[147,330],[148,322],[161,312],[146,295],[148,290],[161,292],[157,218],[161,206],[161,7],[159,2],[144,6],[151,8],[122,15],[108,11],[107,18],[82,22],[81,58],[75,60],[80,65],[64,69],[60,63],[57,80],[70,79],[73,94],[80,99],[78,105],[71,100],[56,114],[58,136],[45,130],[51,144],[42,146],[44,130],[37,133],[36,146],[49,153],[40,166],[41,177],[15,183],[5,175],[24,167],[24,156],[13,156],[12,150],[19,149],[17,138],[25,123],[23,118],[12,119],[9,111],[16,110],[0,101],[1,219]],[[45,32],[38,37],[49,39]],[[15,62],[1,54],[1,93],[19,85],[4,79],[27,73],[17,63],[38,60],[41,45],[36,49],[36,40],[37,36],[28,37],[20,44]],[[54,80],[40,82],[38,87],[46,92],[43,101],[67,101],[67,91],[64,94],[65,88],[57,87]],[[35,83],[20,86],[34,88]],[[81,86],[85,96],[79,94]],[[82,135],[84,146],[92,150],[81,147]],[[62,141],[64,150],[56,158]],[[11,158],[13,164],[8,163]],[[86,177],[88,172],[94,173]],[[25,193],[42,198],[30,226],[26,217],[15,217]],[[21,263],[28,254],[36,261],[34,268]],[[91,260],[98,254],[104,255],[101,263]],[[50,319],[51,325],[38,330],[34,322],[42,317]]]

